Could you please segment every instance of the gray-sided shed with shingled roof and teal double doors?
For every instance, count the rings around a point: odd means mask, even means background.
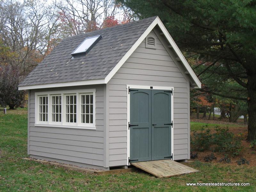
[[[200,87],[159,17],[67,37],[19,85],[28,154],[103,170],[189,159]]]

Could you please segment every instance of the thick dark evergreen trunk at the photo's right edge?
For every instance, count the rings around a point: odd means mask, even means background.
[[[248,82],[248,140],[252,141],[256,139],[256,75],[251,71],[247,71]]]

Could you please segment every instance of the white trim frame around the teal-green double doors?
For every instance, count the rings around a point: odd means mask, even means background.
[[[173,127],[174,127],[174,121],[173,121],[173,94],[174,94],[174,87],[162,87],[162,86],[143,86],[143,85],[126,85],[127,89],[127,158],[126,163],[129,164],[129,157],[130,157],[130,129],[129,129],[129,122],[130,122],[130,94],[129,94],[129,88],[130,89],[155,89],[155,90],[172,90],[171,95],[171,121],[173,122],[173,126],[171,128],[171,153],[172,153],[172,160],[174,159],[173,154]]]

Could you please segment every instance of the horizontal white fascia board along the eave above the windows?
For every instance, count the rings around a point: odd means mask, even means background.
[[[93,85],[93,84],[106,84],[106,82],[105,82],[105,79],[92,79],[92,80],[73,81],[73,82],[65,82],[65,83],[51,83],[51,84],[19,86],[19,90],[43,89],[43,88],[53,88],[53,87],[68,87],[68,86],[78,86],[78,85]]]

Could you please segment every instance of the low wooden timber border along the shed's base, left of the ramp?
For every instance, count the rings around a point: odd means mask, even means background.
[[[83,172],[92,173],[95,175],[108,175],[108,174],[117,174],[117,173],[126,173],[126,172],[136,171],[135,168],[112,169],[112,170],[104,171],[104,170],[98,170],[98,169],[89,169],[89,168],[84,168],[84,167],[78,167],[78,166],[70,165],[70,164],[63,164],[63,163],[58,163],[58,162],[54,162],[54,161],[46,161],[46,160],[33,159],[33,158],[23,158],[23,159],[30,160],[30,161],[36,161],[36,162],[44,163],[44,164],[51,164],[51,165],[55,165],[55,166],[65,167],[68,169],[72,169],[72,170],[76,170],[76,171],[83,171]]]

